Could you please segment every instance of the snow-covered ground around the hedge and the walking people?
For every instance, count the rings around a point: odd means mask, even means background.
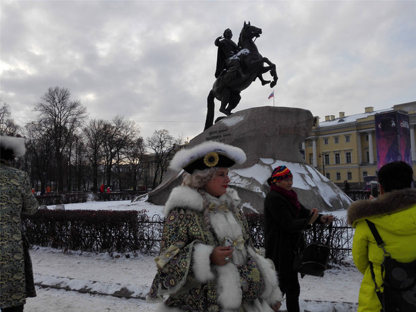
[[[55,206],[48,206],[54,209]],[[142,210],[149,216],[162,214],[162,206],[148,202],[86,202],[65,205],[65,209]],[[345,211],[333,211],[337,217]],[[31,250],[37,297],[28,298],[25,311],[155,311],[155,304],[142,298],[155,276],[152,256],[137,254],[94,254],[63,252],[34,246]],[[351,259],[346,266],[331,268],[324,277],[300,279],[302,311],[356,311],[361,273]],[[76,291],[74,291],[76,290]],[[93,293],[93,294],[92,294]],[[115,297],[114,295],[127,295]],[[283,303],[281,311],[284,311]]]

